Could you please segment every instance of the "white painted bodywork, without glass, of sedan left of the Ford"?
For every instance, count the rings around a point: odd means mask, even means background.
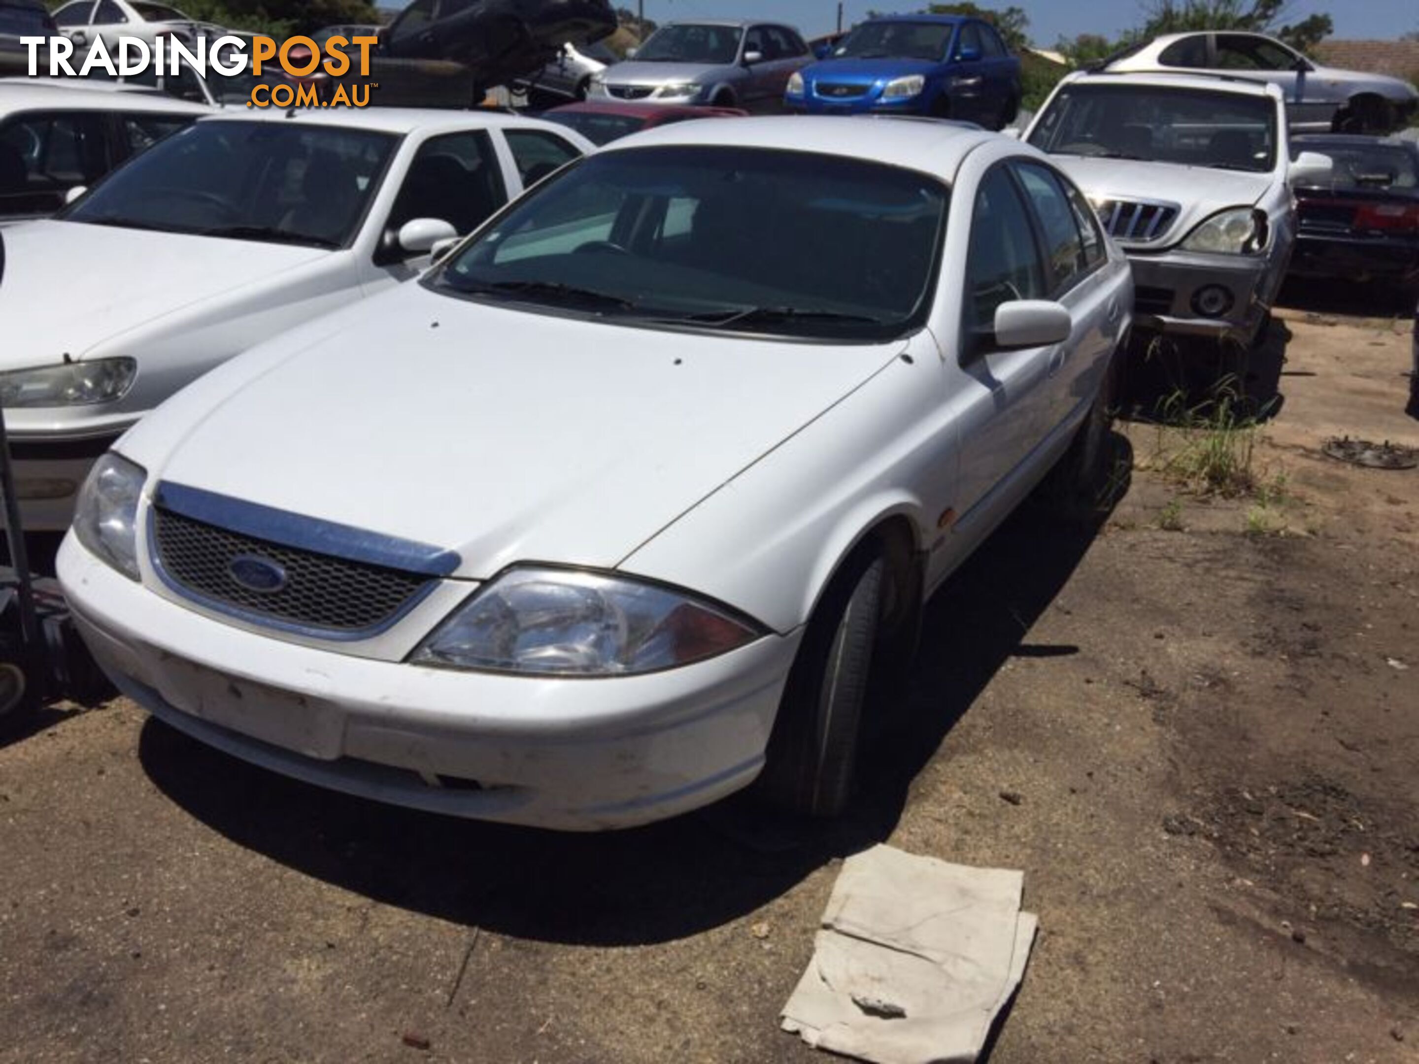
[[[74,89],[60,91],[70,92]],[[250,112],[204,121],[254,118],[291,121],[280,113]],[[499,131],[542,129],[582,152],[593,150],[590,142],[563,126],[480,112],[322,111],[312,123],[403,135],[348,247],[326,250],[64,220],[7,230],[0,314],[18,325],[16,335],[23,342],[0,352],[0,372],[55,365],[65,356],[129,356],[139,363],[132,390],[118,401],[7,411],[10,436],[18,447],[21,499],[26,480],[61,478],[77,485],[92,461],[31,461],[26,444],[116,437],[176,390],[247,348],[417,277],[427,267],[427,255],[376,264],[375,251],[404,174],[430,136],[487,131],[509,199],[521,193],[522,184]],[[77,270],[75,264],[82,267]],[[65,528],[72,495],[26,499],[23,512],[27,528]]]

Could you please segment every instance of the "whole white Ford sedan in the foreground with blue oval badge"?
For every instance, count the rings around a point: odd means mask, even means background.
[[[95,467],[119,688],[353,794],[606,829],[849,797],[871,670],[1107,427],[1131,281],[1034,149],[900,119],[619,142]]]

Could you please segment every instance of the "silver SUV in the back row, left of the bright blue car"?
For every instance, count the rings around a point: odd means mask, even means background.
[[[778,109],[795,71],[813,62],[782,23],[667,23],[627,61],[592,77],[589,99]]]

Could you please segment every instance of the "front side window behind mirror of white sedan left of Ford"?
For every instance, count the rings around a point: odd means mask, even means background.
[[[507,203],[492,140],[482,131],[424,140],[389,213],[389,230],[414,218],[443,218],[460,235]]]

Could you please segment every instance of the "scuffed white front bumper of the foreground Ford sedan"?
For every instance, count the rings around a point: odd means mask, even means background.
[[[179,731],[287,776],[437,813],[631,827],[753,780],[799,634],[685,668],[545,680],[376,661],[210,620],[68,536],[60,580],[99,665]]]

